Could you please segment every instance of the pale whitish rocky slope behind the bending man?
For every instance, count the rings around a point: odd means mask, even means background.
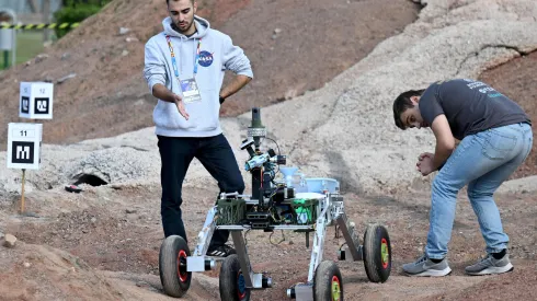
[[[415,158],[434,151],[434,135],[397,128],[392,102],[434,81],[476,79],[537,49],[536,2],[492,2],[427,1],[416,22],[323,89],[263,108],[290,164],[357,193],[396,194],[430,181],[415,172]],[[482,5],[488,10],[476,10]]]

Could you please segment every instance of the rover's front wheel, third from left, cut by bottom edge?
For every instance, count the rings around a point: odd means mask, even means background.
[[[332,298],[332,281],[339,282],[340,298]],[[334,262],[324,261],[316,269],[313,277],[313,300],[315,301],[343,301],[343,279],[340,268]]]

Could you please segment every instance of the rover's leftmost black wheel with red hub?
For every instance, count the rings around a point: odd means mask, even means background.
[[[192,271],[186,271],[186,257],[190,255],[188,244],[179,235],[170,235],[162,242],[159,273],[160,282],[168,296],[181,298],[191,287]],[[181,267],[178,261],[181,261]]]

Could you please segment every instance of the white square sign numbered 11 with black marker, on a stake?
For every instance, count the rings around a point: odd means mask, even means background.
[[[43,125],[14,124],[8,126],[8,169],[38,170]]]

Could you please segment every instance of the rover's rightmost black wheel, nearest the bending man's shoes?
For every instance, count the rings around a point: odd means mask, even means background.
[[[382,255],[382,244],[388,251],[386,255]],[[388,280],[391,273],[391,245],[388,230],[380,224],[367,225],[363,247],[364,266],[369,281],[385,282]]]

